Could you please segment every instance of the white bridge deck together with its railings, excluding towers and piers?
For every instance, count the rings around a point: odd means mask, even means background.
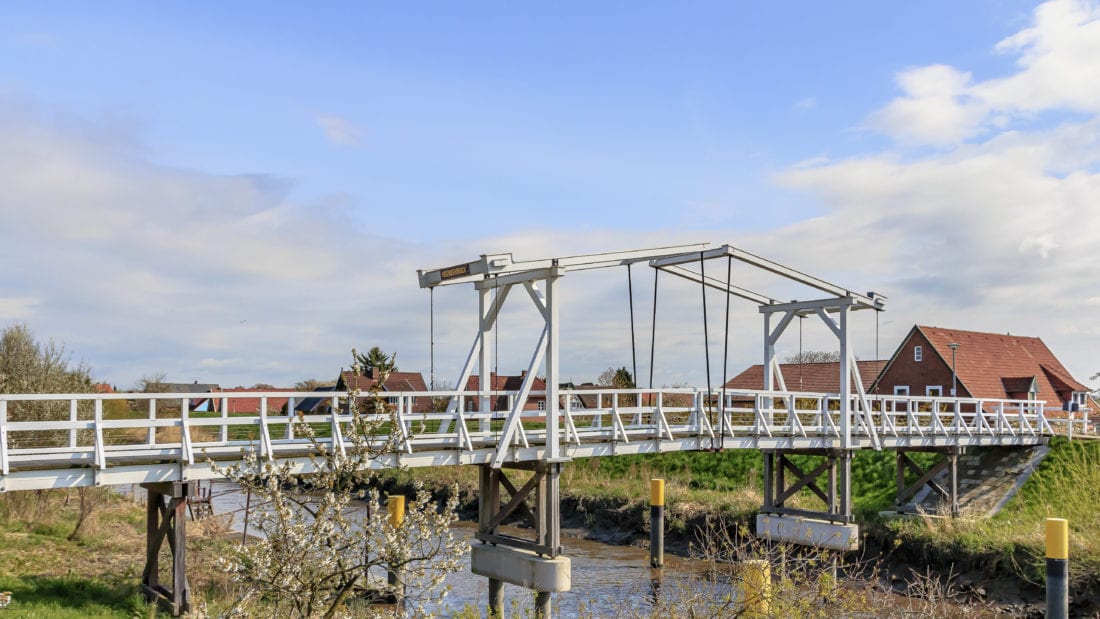
[[[519,431],[501,444],[506,411],[464,411],[466,402],[503,401],[514,393],[385,393],[391,411],[365,416],[375,445],[388,453],[365,466],[486,464],[547,457],[557,430],[566,457],[717,449],[843,449],[839,398],[790,391],[620,389],[560,391],[560,423],[525,410]],[[215,396],[220,411],[193,402]],[[723,397],[724,396],[724,397]],[[348,394],[326,394],[327,412],[288,416],[315,393],[245,394],[256,412],[229,413],[232,394],[0,395],[0,491],[172,482],[218,477],[210,463],[240,462],[242,451],[288,462],[308,473],[318,447],[351,450]],[[411,412],[420,398],[448,399],[451,412]],[[271,413],[268,402],[286,401]],[[583,408],[583,402],[591,408]],[[593,406],[594,405],[594,406]],[[1087,417],[1057,418],[1044,404],[966,398],[872,397],[851,402],[851,449],[1026,445],[1087,428]],[[40,419],[40,420],[30,420]],[[41,419],[50,419],[43,421]],[[302,438],[309,425],[314,439]],[[337,440],[333,441],[333,436]]]

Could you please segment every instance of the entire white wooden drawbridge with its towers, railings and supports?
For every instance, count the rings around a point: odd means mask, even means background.
[[[649,388],[568,390],[560,387],[559,291],[566,274],[625,267],[630,291],[631,358],[635,360],[631,266],[653,272],[653,332],[650,334]],[[715,263],[719,267],[715,269]],[[733,265],[747,266],[810,291],[812,300],[780,300],[735,284]],[[711,269],[707,270],[707,264]],[[725,267],[724,269],[721,267]],[[721,277],[722,272],[725,277]],[[716,276],[715,274],[718,274]],[[653,351],[660,274],[698,285],[704,327],[706,385],[698,388],[654,388]],[[886,297],[859,294],[812,275],[762,258],[732,245],[680,245],[606,254],[515,261],[512,254],[482,255],[475,261],[418,273],[422,288],[469,284],[479,297],[473,343],[455,385],[475,374],[490,376],[501,308],[514,289],[522,289],[541,317],[541,330],[519,389],[477,391],[385,391],[391,410],[376,418],[393,449],[371,466],[476,465],[481,508],[472,554],[475,573],[490,578],[490,607],[503,608],[503,582],[540,592],[537,608],[549,615],[550,592],[569,588],[569,562],[560,542],[559,476],[576,457],[615,456],[671,451],[758,450],[763,458],[763,506],[758,534],[839,549],[858,544],[851,510],[851,457],[859,450],[893,450],[898,454],[899,505],[925,485],[957,507],[957,460],[968,447],[1035,445],[1056,434],[1087,429],[1087,420],[1047,414],[1042,401],[980,400],[877,396],[862,390],[853,353],[849,319],[856,311],[883,311]],[[759,280],[759,277],[750,278]],[[729,390],[711,384],[707,292],[725,301],[725,341],[729,335],[730,301],[749,301],[762,318],[763,385],[760,390]],[[824,298],[815,298],[824,295]],[[433,297],[432,297],[433,299]],[[432,303],[432,309],[435,305]],[[712,310],[713,311],[713,310]],[[817,318],[836,336],[839,351],[838,393],[796,393],[787,388],[776,346],[794,319]],[[432,338],[433,345],[433,338]],[[728,346],[727,349],[728,350]],[[723,367],[725,367],[725,352]],[[535,393],[536,375],[546,391]],[[546,410],[530,410],[532,395]],[[351,449],[345,433],[358,404],[351,394],[324,394],[328,412],[296,417],[296,404],[317,393],[216,394],[220,413],[191,410],[191,401],[211,394],[23,394],[0,395],[0,491],[79,486],[142,484],[150,491],[146,568],[142,582],[150,597],[166,598],[172,609],[189,606],[185,574],[184,508],[193,483],[217,477],[211,462],[228,466],[245,451],[311,471],[310,451],[322,444],[332,451]],[[228,413],[234,398],[260,398],[251,413]],[[287,398],[273,410],[268,402]],[[432,398],[439,412],[414,406]],[[506,401],[506,410],[493,402]],[[587,406],[584,406],[587,402]],[[594,402],[594,404],[593,404]],[[292,411],[292,412],[287,412]],[[309,423],[315,439],[296,435],[296,419]],[[944,454],[924,471],[906,452]],[[809,456],[818,464],[803,471],[790,456]],[[532,471],[517,489],[506,469]],[[946,475],[938,483],[937,475]],[[906,482],[906,475],[916,482]],[[818,484],[824,477],[825,487]],[[787,505],[802,490],[824,504],[821,511]],[[510,496],[502,501],[504,494]],[[527,506],[528,500],[534,505]],[[522,507],[522,509],[519,509]],[[498,527],[512,515],[528,519],[534,539],[516,538]],[[157,582],[160,549],[173,549],[173,587]],[[517,579],[517,573],[546,575]]]

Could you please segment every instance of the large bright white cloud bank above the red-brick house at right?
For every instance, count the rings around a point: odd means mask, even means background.
[[[1094,4],[1055,0],[998,46],[1020,55],[1012,75],[903,73],[904,96],[868,121],[895,145],[778,175],[829,211],[758,242],[878,280],[894,336],[914,322],[1037,335],[1085,378],[1100,346],[1080,301],[1094,288],[1100,239],[1098,27]]]

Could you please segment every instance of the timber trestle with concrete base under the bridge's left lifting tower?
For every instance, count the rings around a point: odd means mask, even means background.
[[[512,463],[507,468],[480,465],[479,517],[470,563],[474,574],[488,578],[488,615],[504,612],[504,583],[537,592],[535,614],[551,616],[551,594],[571,586],[569,557],[562,556],[559,477],[562,462]],[[521,486],[508,478],[509,471],[529,471]],[[503,493],[508,500],[502,504]],[[528,499],[531,502],[528,504]],[[518,516],[534,530],[534,538],[504,532],[501,527]]]

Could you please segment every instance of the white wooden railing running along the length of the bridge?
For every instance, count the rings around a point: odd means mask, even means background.
[[[529,447],[557,431],[562,444],[724,438],[840,436],[835,394],[694,388],[560,391],[560,423],[548,429],[534,393],[519,412],[510,444],[501,440],[514,391],[384,393],[388,411],[370,417],[378,442],[403,453]],[[431,410],[455,398],[453,411]],[[299,411],[308,405],[307,411]],[[311,440],[295,430],[305,421],[316,441],[348,446],[346,424],[359,406],[346,393],[265,391],[202,394],[0,395],[0,468],[148,461],[193,464],[228,458],[242,449],[272,456],[300,455]],[[869,414],[862,414],[862,407]],[[1045,402],[949,397],[853,397],[851,433],[866,441],[913,438],[1037,438],[1088,430],[1087,413],[1049,411]],[[1052,414],[1053,412],[1053,414]],[[300,413],[300,414],[299,414]],[[714,444],[714,443],[712,443]],[[865,445],[866,446],[866,445]]]

